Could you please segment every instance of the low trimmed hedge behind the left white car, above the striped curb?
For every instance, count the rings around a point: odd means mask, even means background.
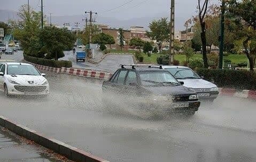
[[[42,59],[42,58],[35,58],[32,56],[28,56],[24,54],[24,59],[28,62],[36,63],[36,64],[41,64],[43,66],[48,66],[48,67],[56,67],[56,68],[70,68],[72,67],[72,62],[71,61],[65,61],[65,60],[48,60],[48,59]]]

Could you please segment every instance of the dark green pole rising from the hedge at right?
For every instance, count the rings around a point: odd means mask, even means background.
[[[224,14],[225,14],[225,1],[224,1],[224,0],[222,0],[222,4],[221,4],[221,22],[220,22],[219,69],[222,69],[222,67],[223,67]]]

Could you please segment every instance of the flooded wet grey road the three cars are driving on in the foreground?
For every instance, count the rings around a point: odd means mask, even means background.
[[[189,119],[141,120],[109,114],[99,80],[47,78],[48,98],[0,93],[0,115],[110,161],[256,161],[255,101],[221,96]]]

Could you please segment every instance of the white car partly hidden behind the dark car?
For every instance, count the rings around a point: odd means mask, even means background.
[[[184,82],[184,86],[192,88],[198,93],[199,99],[213,101],[219,95],[218,87],[202,79],[195,71],[183,66],[162,66],[169,71],[179,82]]]

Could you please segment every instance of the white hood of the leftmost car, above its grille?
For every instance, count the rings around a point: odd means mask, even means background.
[[[42,85],[45,78],[43,76],[34,75],[8,75],[7,78],[14,80],[21,85],[33,86]],[[30,83],[29,83],[30,82]]]

